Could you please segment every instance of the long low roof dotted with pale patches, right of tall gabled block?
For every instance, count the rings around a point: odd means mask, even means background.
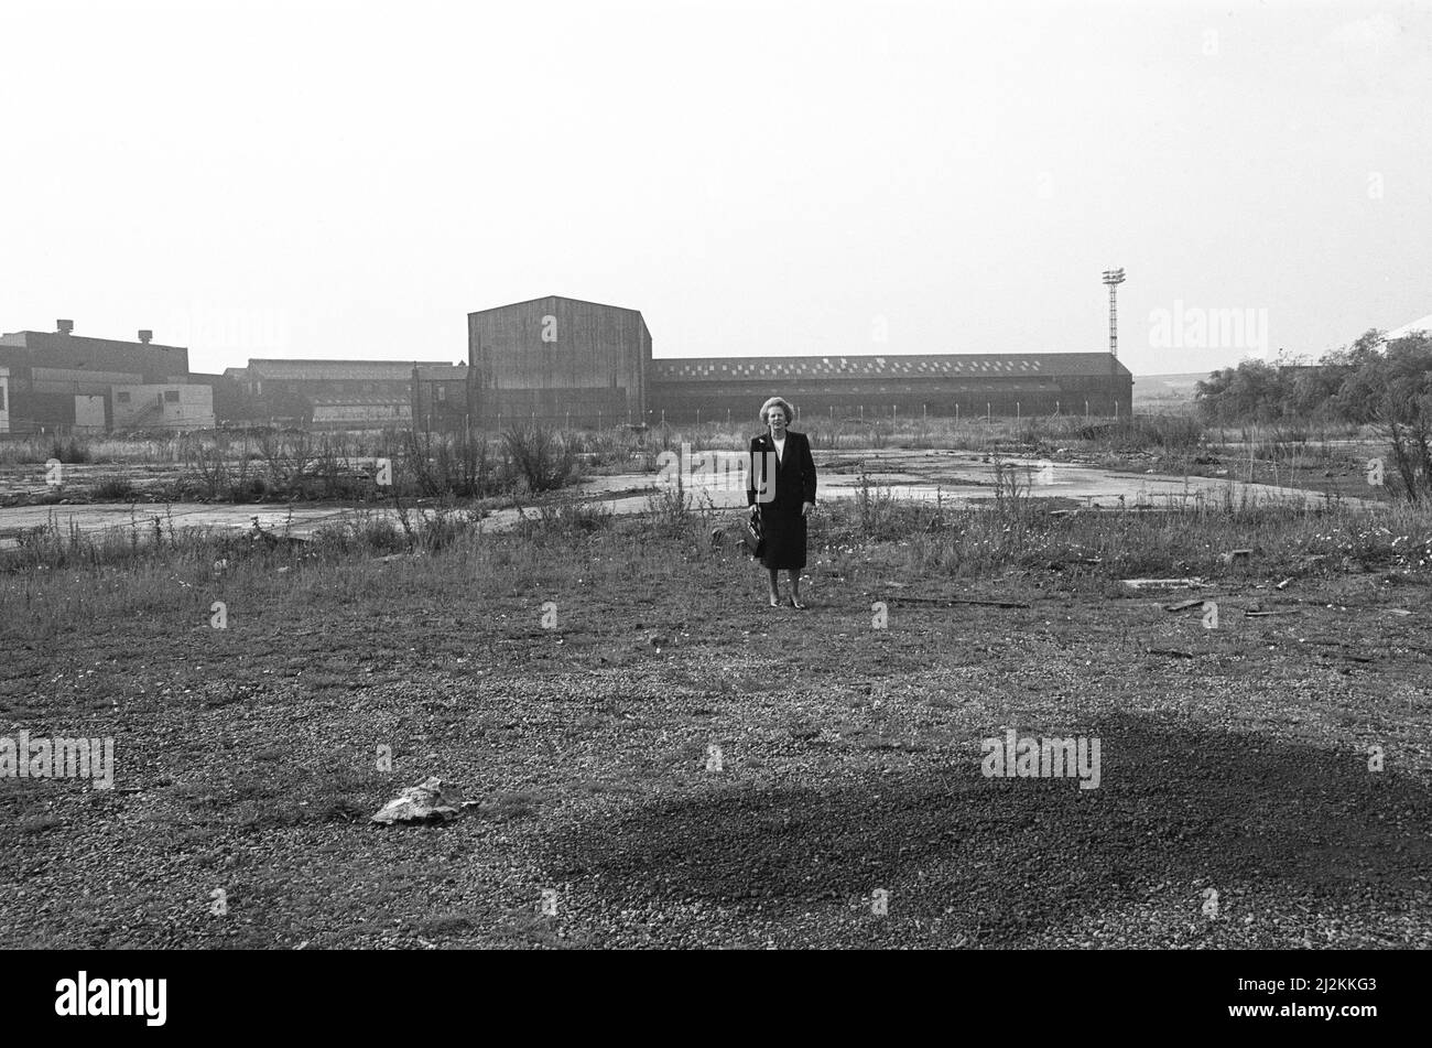
[[[690,356],[652,361],[656,382],[831,378],[1057,378],[1128,374],[1108,354]]]

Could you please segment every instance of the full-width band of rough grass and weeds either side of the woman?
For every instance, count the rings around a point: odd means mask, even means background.
[[[556,594],[610,586],[687,593],[755,584],[737,553],[742,511],[613,517],[600,505],[547,505],[508,533],[480,533],[477,514],[407,510],[397,520],[355,514],[308,541],[284,528],[185,531],[159,520],[102,534],[46,528],[0,555],[0,636],[73,631],[87,617],[147,613],[176,601],[202,623],[212,600],[304,604],[308,590],[341,588],[355,601],[427,587],[464,607],[474,591]],[[712,523],[722,531],[712,537]],[[1230,550],[1252,557],[1227,563]],[[391,554],[407,554],[392,557]],[[884,586],[931,578],[1100,590],[1136,576],[1269,580],[1380,571],[1385,581],[1432,584],[1432,511],[1189,500],[1164,511],[1050,511],[1010,474],[988,504],[905,501],[871,490],[825,503],[811,521],[808,571]],[[580,581],[579,581],[580,580]],[[505,588],[503,588],[505,587]],[[516,587],[516,588],[514,588]],[[852,590],[846,590],[852,591]],[[918,590],[912,590],[918,591]]]

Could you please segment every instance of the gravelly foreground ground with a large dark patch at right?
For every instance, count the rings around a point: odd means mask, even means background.
[[[872,557],[799,613],[679,545],[298,563],[223,631],[182,567],[34,583],[0,734],[115,736],[116,789],[0,779],[0,946],[1432,946],[1425,586],[1249,578],[1206,630]],[[1100,786],[985,777],[1007,729],[1097,737]],[[368,822],[428,775],[481,803]]]

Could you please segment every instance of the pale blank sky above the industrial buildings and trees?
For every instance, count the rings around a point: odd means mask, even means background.
[[[6,0],[0,40],[0,329],[196,371],[455,362],[541,295],[657,356],[1097,351],[1108,266],[1136,374],[1432,312],[1428,3]]]

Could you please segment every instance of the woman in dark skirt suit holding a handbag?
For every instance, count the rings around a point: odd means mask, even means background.
[[[765,538],[760,563],[770,573],[770,607],[780,607],[776,573],[785,568],[790,576],[790,607],[805,610],[800,568],[805,567],[805,518],[815,508],[815,460],[806,435],[786,430],[793,414],[790,404],[779,397],[760,405],[766,432],[750,438],[746,504],[760,507]]]

